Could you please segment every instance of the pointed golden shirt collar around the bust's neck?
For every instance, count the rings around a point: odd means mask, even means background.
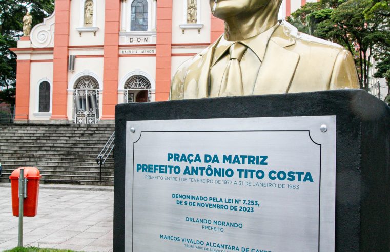
[[[279,23],[266,30],[265,32],[262,32],[254,37],[239,40],[238,42],[249,47],[262,62],[268,41],[270,40],[272,34],[278,26]],[[222,36],[218,42],[218,45],[215,47],[212,65],[214,65],[225,54],[225,52],[229,50],[229,47],[235,42],[236,41],[228,41],[224,38],[224,36]]]

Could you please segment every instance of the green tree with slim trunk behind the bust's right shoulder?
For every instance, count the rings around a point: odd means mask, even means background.
[[[390,47],[387,17],[375,11],[366,14],[374,1],[379,0],[322,0],[292,14],[293,21],[300,20],[312,35],[341,44],[355,56],[360,88],[365,90],[371,59]]]

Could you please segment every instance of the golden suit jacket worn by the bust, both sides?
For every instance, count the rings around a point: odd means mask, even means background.
[[[210,67],[219,40],[178,68],[172,80],[171,100],[209,97]],[[266,47],[253,95],[344,88],[359,88],[351,53],[282,22]]]

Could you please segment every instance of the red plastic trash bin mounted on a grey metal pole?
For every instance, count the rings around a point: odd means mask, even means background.
[[[35,167],[23,167],[24,177],[27,178],[27,198],[23,202],[23,216],[34,217],[38,210],[38,194],[40,173]],[[9,177],[11,180],[12,214],[19,216],[19,177],[20,168],[14,170]]]

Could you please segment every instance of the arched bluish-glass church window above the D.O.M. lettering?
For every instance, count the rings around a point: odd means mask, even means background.
[[[131,3],[131,31],[148,30],[148,1],[134,0]]]

